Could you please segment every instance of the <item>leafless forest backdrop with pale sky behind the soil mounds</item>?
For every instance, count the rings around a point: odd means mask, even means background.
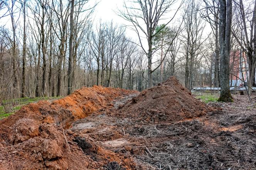
[[[127,25],[93,21],[98,3],[1,1],[0,98],[65,96],[93,85],[141,91],[172,75],[190,90],[220,87],[225,53],[228,78],[235,76],[237,86],[246,83],[249,93],[255,85],[255,1],[227,1],[227,7],[217,0],[146,1],[146,6],[125,1],[116,15]],[[225,13],[224,28],[221,8],[227,8],[229,20],[226,25]],[[225,28],[230,40],[221,34]],[[227,52],[221,44],[230,46]],[[237,58],[244,66],[234,66]]]

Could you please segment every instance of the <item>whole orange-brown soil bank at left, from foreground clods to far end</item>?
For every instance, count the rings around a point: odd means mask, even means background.
[[[52,103],[40,101],[22,107],[0,121],[0,169],[94,169],[111,162],[132,168],[130,159],[123,160],[91,139],[64,131],[72,121],[113,107],[109,103],[114,98],[130,93],[135,92],[83,87]]]

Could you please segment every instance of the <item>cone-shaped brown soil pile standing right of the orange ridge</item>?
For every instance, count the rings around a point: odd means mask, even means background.
[[[136,122],[175,122],[212,111],[191,95],[175,77],[149,88],[120,107],[117,116]]]

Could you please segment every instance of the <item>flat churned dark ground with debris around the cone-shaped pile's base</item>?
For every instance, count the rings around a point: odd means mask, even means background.
[[[133,158],[138,169],[256,168],[256,108],[246,104],[246,96],[234,95],[234,103],[209,103],[219,109],[174,123],[111,116],[132,97],[115,100],[115,107],[75,122],[71,130]]]

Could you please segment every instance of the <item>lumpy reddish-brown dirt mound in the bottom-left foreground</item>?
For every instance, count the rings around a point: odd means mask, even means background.
[[[73,132],[69,134],[69,130],[65,133],[56,124],[42,123],[38,136],[0,148],[0,170],[93,170],[113,161],[125,168],[133,168],[134,163],[130,158],[124,160],[95,141],[76,135]]]

